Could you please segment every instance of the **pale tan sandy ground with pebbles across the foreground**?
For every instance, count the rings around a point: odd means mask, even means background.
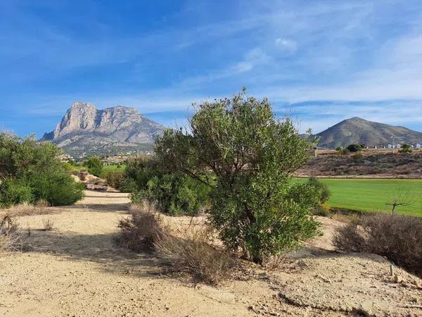
[[[148,254],[117,247],[126,194],[87,192],[75,206],[20,217],[30,251],[0,254],[0,316],[422,316],[422,281],[371,254],[339,254],[341,225],[220,287],[165,275]],[[43,220],[53,230],[41,231]],[[172,218],[186,222],[186,218]]]

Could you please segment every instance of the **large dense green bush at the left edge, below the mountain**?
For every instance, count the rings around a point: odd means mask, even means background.
[[[41,199],[57,206],[81,199],[83,186],[73,180],[58,154],[58,147],[49,142],[0,133],[0,206]]]

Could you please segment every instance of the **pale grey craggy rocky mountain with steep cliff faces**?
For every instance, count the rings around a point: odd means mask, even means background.
[[[41,141],[51,141],[74,156],[121,154],[152,149],[165,127],[141,115],[135,108],[115,106],[97,109],[75,102],[56,129]]]

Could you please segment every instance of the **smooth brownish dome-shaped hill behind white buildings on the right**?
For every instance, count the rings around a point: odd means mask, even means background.
[[[329,149],[351,143],[364,143],[369,147],[387,146],[392,144],[392,136],[395,136],[396,144],[422,144],[422,132],[357,117],[343,120],[316,136],[319,137],[318,146]]]

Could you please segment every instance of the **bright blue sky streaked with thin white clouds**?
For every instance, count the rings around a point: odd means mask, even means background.
[[[360,116],[422,131],[422,1],[0,1],[0,130],[74,101],[184,125],[243,86],[301,131]]]

